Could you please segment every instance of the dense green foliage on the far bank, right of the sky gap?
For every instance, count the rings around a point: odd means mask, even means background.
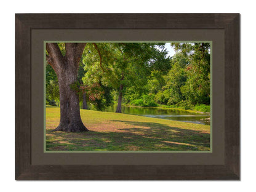
[[[173,43],[172,46],[176,50],[170,60],[172,68],[162,76],[164,81],[154,78],[149,82],[150,92],[161,105],[209,112],[210,44]],[[159,89],[161,82],[164,84]]]

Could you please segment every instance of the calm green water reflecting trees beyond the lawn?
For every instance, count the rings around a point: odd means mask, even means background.
[[[106,112],[115,112],[116,105],[109,106],[105,110]],[[149,118],[169,119],[175,121],[193,122],[197,124],[210,125],[210,115],[206,113],[190,113],[185,110],[174,110],[168,108],[157,107],[132,107],[122,106],[122,113],[125,114],[137,114]]]

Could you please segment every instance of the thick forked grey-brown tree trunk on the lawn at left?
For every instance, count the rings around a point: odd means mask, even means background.
[[[47,43],[47,61],[54,68],[60,89],[60,124],[54,131],[87,131],[80,116],[79,96],[75,88],[78,66],[86,44],[66,43],[63,56],[55,43]]]

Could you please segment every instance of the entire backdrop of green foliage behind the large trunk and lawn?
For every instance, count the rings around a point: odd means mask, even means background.
[[[65,54],[65,44],[58,44]],[[134,106],[169,106],[210,111],[210,44],[88,43],[78,75],[78,94],[86,92],[90,108],[104,110],[116,103]],[[120,86],[123,86],[120,89]],[[72,85],[71,85],[72,86]],[[46,66],[46,102],[58,104],[58,80]]]

